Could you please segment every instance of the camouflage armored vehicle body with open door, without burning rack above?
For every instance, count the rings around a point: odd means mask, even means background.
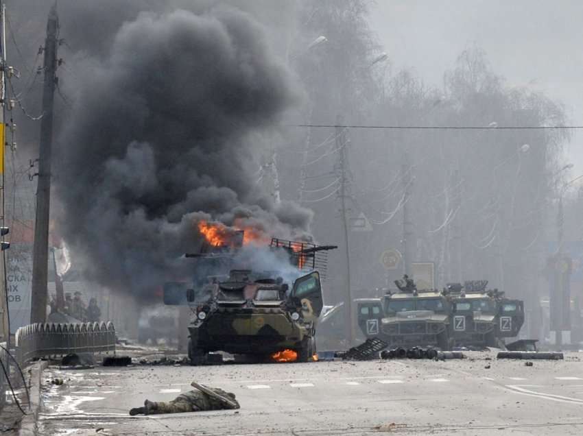
[[[268,357],[282,350],[308,361],[316,352],[316,323],[322,311],[320,274],[287,284],[281,277],[231,271],[228,280],[191,290],[191,361],[211,351]]]

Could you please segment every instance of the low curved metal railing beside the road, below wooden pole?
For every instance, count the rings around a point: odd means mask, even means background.
[[[29,324],[16,330],[16,359],[24,365],[40,357],[115,352],[115,341],[115,328],[111,322]]]

